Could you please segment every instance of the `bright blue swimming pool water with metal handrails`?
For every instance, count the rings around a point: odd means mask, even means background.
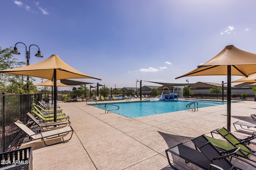
[[[134,118],[134,117],[142,117],[148,115],[157,115],[161,113],[169,113],[174,111],[188,110],[186,107],[187,104],[191,102],[197,102],[198,108],[201,107],[209,107],[209,106],[218,106],[222,104],[226,104],[226,101],[208,101],[208,100],[170,100],[170,101],[159,101],[159,100],[151,100],[151,101],[143,101],[143,102],[122,102],[122,103],[111,103],[116,106],[106,105],[106,110],[112,110],[112,113],[116,113],[119,115],[123,115],[126,117]],[[100,109],[105,110],[105,104],[91,104],[91,106],[98,107]],[[194,107],[194,104],[191,105]]]

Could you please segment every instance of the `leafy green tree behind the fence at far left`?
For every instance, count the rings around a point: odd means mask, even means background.
[[[12,55],[12,49],[2,49],[0,47],[0,69],[6,70],[10,68],[17,68],[26,65],[25,62],[20,62]],[[29,82],[32,84],[32,82]],[[32,87],[32,90],[37,90],[36,87]],[[19,94],[26,92],[26,81],[24,76],[15,74],[0,74],[0,91],[8,94]]]

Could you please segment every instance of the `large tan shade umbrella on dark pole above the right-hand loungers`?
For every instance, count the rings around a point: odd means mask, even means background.
[[[248,77],[253,73],[256,73],[256,54],[240,50],[234,45],[228,45],[206,63],[197,66],[195,70],[177,78],[186,76],[227,75],[227,129],[230,131],[231,75]]]

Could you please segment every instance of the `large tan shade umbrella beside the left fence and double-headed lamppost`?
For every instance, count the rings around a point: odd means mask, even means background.
[[[94,78],[72,68],[62,61],[58,55],[52,55],[48,59],[28,66],[0,70],[0,73],[34,76],[52,80],[54,82],[54,121],[57,120],[57,80],[66,78]],[[100,80],[99,78],[94,79]]]

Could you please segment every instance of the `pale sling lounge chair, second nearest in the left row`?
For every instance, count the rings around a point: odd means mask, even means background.
[[[36,119],[36,117],[34,117],[31,113],[27,113],[28,117],[30,117],[30,119],[32,119],[32,121],[34,121],[34,123],[38,126],[38,127],[42,127],[43,129],[47,129],[47,130],[52,130],[52,129],[56,129],[56,128],[62,128],[62,127],[66,127],[70,125],[70,121],[57,121],[57,122],[46,122],[46,123],[40,123],[40,121],[38,121],[38,119]]]

